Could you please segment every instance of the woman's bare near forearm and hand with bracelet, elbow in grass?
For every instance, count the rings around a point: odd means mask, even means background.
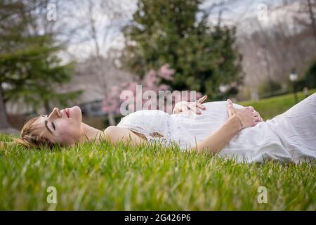
[[[220,129],[197,143],[190,150],[198,152],[207,150],[209,153],[218,153],[241,129],[254,127],[260,122],[257,112],[252,111],[251,108],[243,108],[236,113],[235,108],[232,107],[232,103],[229,101],[228,115],[230,115],[230,118]]]

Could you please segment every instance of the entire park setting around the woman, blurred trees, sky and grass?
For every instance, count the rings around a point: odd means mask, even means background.
[[[315,11],[315,0],[0,0],[0,133],[72,105],[104,129],[136,84],[232,98],[271,119],[316,91]],[[316,209],[315,161],[107,142],[26,150],[8,134],[0,210]]]

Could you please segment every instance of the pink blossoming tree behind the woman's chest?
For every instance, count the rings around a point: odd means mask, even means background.
[[[186,91],[185,93],[183,93],[183,91],[173,91],[172,96],[174,98],[168,98],[168,94],[171,95],[171,88],[167,84],[162,84],[162,79],[172,81],[174,72],[174,70],[169,68],[168,64],[164,64],[157,72],[154,70],[147,72],[143,79],[112,86],[110,94],[103,101],[103,112],[114,114],[121,113],[121,103],[127,101],[128,108],[132,108],[133,111],[135,111],[135,109],[140,110],[145,108],[148,110],[164,110],[168,113],[172,112],[173,105],[178,101],[195,101],[196,99],[191,99],[192,95],[190,94],[190,91]],[[140,93],[137,93],[137,91],[139,91],[138,85],[141,85]],[[123,91],[125,99],[120,98]],[[152,99],[152,97],[150,97],[150,99],[146,99],[145,97],[148,93],[154,93],[155,98]],[[139,94],[142,96],[140,99],[140,109],[137,108],[138,105],[135,99],[135,96],[138,96]],[[143,99],[143,96],[145,99]],[[200,98],[201,96],[201,93],[196,93],[196,98]]]

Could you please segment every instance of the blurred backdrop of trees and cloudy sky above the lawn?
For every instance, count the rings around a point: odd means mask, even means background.
[[[136,84],[251,103],[313,89],[315,10],[312,0],[1,1],[0,128],[79,105],[105,129]]]

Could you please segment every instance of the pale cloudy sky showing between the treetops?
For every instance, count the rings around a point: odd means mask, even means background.
[[[94,0],[93,2],[97,2],[100,0]],[[75,2],[75,4],[73,3]],[[201,5],[201,8],[208,11],[212,4],[218,4],[220,0],[206,0]],[[242,27],[243,23],[246,22],[248,18],[263,18],[269,12],[270,8],[277,6],[282,3],[281,0],[235,0],[231,1],[232,3],[228,4],[223,8],[222,14],[222,23],[227,25],[240,25]],[[98,41],[100,43],[100,47],[103,53],[106,53],[110,47],[114,47],[117,49],[122,49],[124,47],[124,37],[121,34],[121,27],[129,23],[132,18],[133,13],[136,11],[136,3],[137,0],[120,0],[119,4],[122,8],[122,12],[124,13],[124,19],[117,21],[117,24],[111,25],[107,20],[107,15],[105,15],[104,11],[100,10],[100,8],[93,8],[93,19],[96,20]],[[64,5],[67,10],[72,11],[77,16],[77,20],[73,20],[68,23],[70,27],[73,25],[74,21],[77,23],[86,23],[86,19],[84,18],[88,13],[88,6],[83,4],[83,1],[72,1],[72,4]],[[61,8],[60,11],[66,11],[65,8]],[[214,8],[213,13],[209,17],[210,23],[217,23],[218,20],[218,10],[219,8]],[[62,12],[63,13],[63,12]],[[64,12],[65,13],[65,12]],[[79,19],[78,18],[82,18]],[[264,22],[264,21],[263,21]],[[110,27],[110,28],[107,28]],[[75,37],[67,48],[67,54],[71,54],[72,57],[77,58],[77,60],[81,60],[86,58],[91,49],[94,49],[94,42],[89,38],[91,30],[82,29],[77,37]],[[105,32],[109,32],[104,39]],[[67,58],[67,54],[62,56],[63,58]]]

